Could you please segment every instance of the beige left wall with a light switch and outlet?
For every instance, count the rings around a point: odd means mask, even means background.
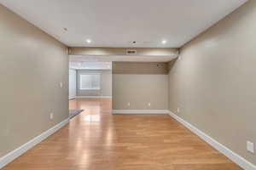
[[[60,42],[0,5],[0,156],[68,117],[66,53]]]

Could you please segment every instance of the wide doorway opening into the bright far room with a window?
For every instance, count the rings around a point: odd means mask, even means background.
[[[112,62],[84,60],[69,61],[69,113],[71,118],[90,113],[88,120],[96,121],[112,110]]]

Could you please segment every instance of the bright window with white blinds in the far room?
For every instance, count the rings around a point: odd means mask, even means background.
[[[100,74],[83,74],[80,75],[81,90],[99,90],[101,89]]]

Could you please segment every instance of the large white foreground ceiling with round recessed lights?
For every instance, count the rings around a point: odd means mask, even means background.
[[[246,1],[0,0],[0,3],[68,46],[178,48]],[[86,42],[88,38],[90,44]],[[162,40],[167,43],[161,44]],[[133,41],[137,43],[131,44]]]

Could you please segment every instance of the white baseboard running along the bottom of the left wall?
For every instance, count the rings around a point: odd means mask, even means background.
[[[55,125],[55,127],[50,128],[49,130],[45,131],[44,133],[41,133],[39,136],[37,136],[34,139],[31,139],[26,144],[21,145],[19,148],[9,152],[7,155],[0,158],[0,169],[7,164],[9,164],[11,161],[14,161],[17,157],[24,154],[27,150],[32,149],[36,144],[39,144],[44,139],[49,137],[51,134],[55,133],[57,130],[59,130],[61,127],[65,126],[69,122],[69,118],[67,118],[65,121],[60,122],[59,124]]]

